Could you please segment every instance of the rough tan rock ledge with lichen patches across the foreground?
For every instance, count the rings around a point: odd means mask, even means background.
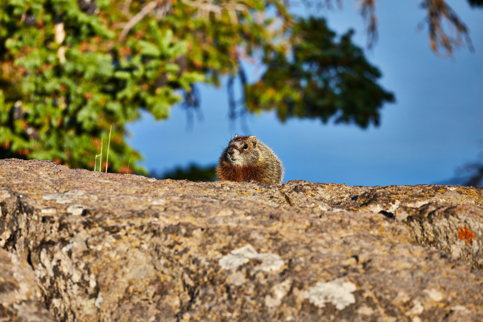
[[[0,160],[0,321],[482,321],[481,206]]]

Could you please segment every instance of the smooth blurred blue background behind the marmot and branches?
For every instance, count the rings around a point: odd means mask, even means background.
[[[436,183],[483,150],[483,9],[449,1],[470,29],[475,48],[461,48],[451,59],[429,49],[426,29],[416,26],[425,12],[415,1],[377,1],[379,41],[368,59],[383,73],[380,83],[395,93],[396,103],[381,113],[381,126],[324,125],[317,120],[280,123],[274,114],[248,117],[248,133],[267,143],[284,162],[284,181],[301,179],[348,185]],[[362,18],[354,1],[343,10],[324,10],[339,34],[354,28],[354,41],[365,46]],[[304,13],[301,8],[294,11]],[[250,70],[253,79],[253,70]],[[185,110],[173,107],[170,118],[155,121],[143,113],[128,126],[129,142],[144,156],[147,169],[165,171],[190,162],[216,163],[221,147],[240,123],[227,116],[226,83],[200,85],[203,121],[186,126]]]

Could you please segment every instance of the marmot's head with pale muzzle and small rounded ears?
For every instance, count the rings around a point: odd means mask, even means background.
[[[258,160],[259,153],[257,151],[256,136],[238,136],[228,143],[227,161],[236,167],[246,167],[253,165]]]

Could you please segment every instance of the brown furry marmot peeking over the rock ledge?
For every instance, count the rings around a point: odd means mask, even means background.
[[[220,156],[216,176],[219,180],[278,184],[284,178],[284,167],[273,150],[256,136],[235,134]]]

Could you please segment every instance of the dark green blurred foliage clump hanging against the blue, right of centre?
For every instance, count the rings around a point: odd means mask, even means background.
[[[275,110],[281,120],[290,116],[320,118],[324,123],[379,125],[379,109],[393,102],[377,79],[381,72],[354,45],[349,30],[336,41],[325,19],[299,19],[292,29],[292,55],[266,48],[262,79],[247,86],[249,111]]]

